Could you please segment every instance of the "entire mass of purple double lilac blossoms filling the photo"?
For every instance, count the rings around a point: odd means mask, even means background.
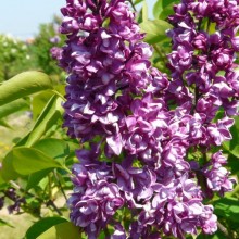
[[[213,206],[202,202],[209,192],[230,191],[234,180],[221,151],[205,158],[231,139],[238,105],[239,10],[223,2],[175,5],[172,80],[151,66],[151,48],[124,0],[67,0],[62,9],[67,41],[55,56],[68,73],[64,126],[81,144],[68,205],[89,238],[108,225],[115,239],[217,229]],[[201,29],[205,17],[215,34]],[[219,109],[225,116],[213,121]],[[201,152],[203,165],[188,161],[191,151]],[[121,216],[126,210],[130,218]]]

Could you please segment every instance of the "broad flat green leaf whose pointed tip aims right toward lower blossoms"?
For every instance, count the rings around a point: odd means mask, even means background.
[[[3,179],[29,175],[47,168],[62,168],[61,164],[37,149],[26,147],[13,148],[2,161]],[[10,171],[10,175],[8,176]]]

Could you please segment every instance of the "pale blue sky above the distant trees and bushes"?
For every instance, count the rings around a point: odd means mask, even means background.
[[[147,0],[149,9],[155,0]],[[11,34],[26,39],[38,32],[41,23],[48,23],[54,14],[61,15],[60,8],[65,0],[1,0],[0,34]]]

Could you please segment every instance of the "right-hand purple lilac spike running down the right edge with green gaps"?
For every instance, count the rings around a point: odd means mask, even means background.
[[[171,98],[179,105],[190,102],[197,127],[197,137],[190,137],[191,144],[203,149],[204,155],[211,147],[231,139],[230,116],[238,115],[239,75],[235,63],[239,51],[238,7],[236,0],[185,0],[175,5],[175,14],[169,17],[174,26],[168,32],[173,42],[168,55],[173,77],[168,87]],[[224,112],[222,118],[217,116],[219,111]],[[196,167],[206,178],[207,196],[212,191],[221,194],[231,191],[235,180],[228,178],[229,172],[222,166],[226,164],[222,152],[209,161],[201,168]]]

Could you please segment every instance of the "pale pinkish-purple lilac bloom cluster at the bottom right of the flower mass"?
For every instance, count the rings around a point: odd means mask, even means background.
[[[213,207],[202,204],[200,187],[185,174],[180,179],[172,180],[168,185],[155,184],[156,192],[152,201],[149,201],[139,214],[136,231],[140,235],[146,226],[152,225],[162,228],[165,235],[184,238],[185,234],[197,235],[197,227],[211,228],[207,232],[217,229],[216,216],[212,213]],[[213,224],[214,222],[214,224]]]

